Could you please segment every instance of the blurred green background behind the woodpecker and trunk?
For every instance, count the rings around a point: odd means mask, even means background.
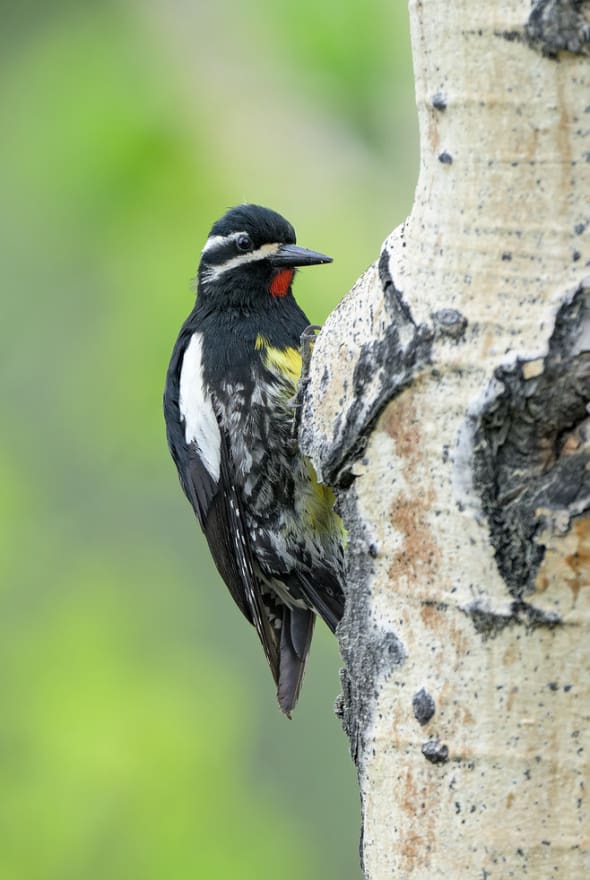
[[[405,4],[0,8],[0,877],[358,880],[337,644],[287,721],[161,394],[226,207],[335,258],[314,322],[407,213]]]

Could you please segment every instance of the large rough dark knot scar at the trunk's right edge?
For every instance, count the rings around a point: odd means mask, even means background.
[[[590,286],[561,306],[548,354],[496,370],[476,417],[474,488],[498,570],[521,601],[535,589],[541,534],[590,510]],[[522,615],[522,607],[516,609]]]

